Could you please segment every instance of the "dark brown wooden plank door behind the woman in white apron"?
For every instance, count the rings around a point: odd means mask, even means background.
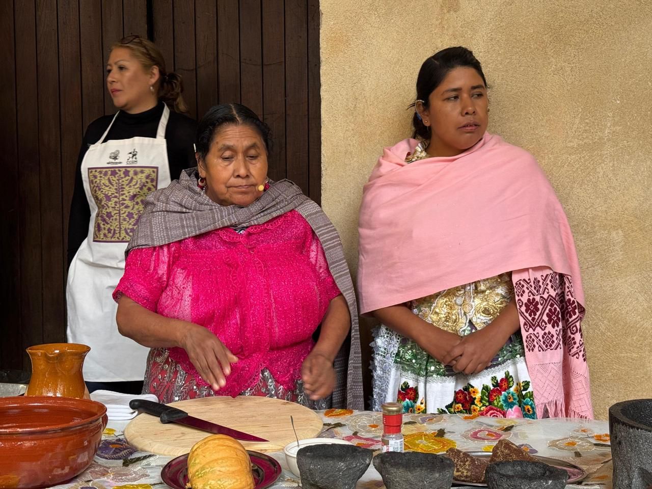
[[[191,117],[245,104],[271,126],[269,175],[321,198],[318,0],[0,2],[0,369],[65,341],[67,226],[85,128],[113,113],[110,46],[152,39]]]

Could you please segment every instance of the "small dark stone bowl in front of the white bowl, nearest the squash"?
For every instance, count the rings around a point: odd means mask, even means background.
[[[355,445],[308,445],[297,452],[303,489],[354,489],[374,452]]]

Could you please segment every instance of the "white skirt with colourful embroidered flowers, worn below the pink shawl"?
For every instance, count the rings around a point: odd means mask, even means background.
[[[466,333],[473,331],[469,325]],[[383,402],[399,402],[404,413],[537,417],[520,332],[511,336],[490,367],[471,376],[454,372],[384,325],[374,337],[374,411]]]

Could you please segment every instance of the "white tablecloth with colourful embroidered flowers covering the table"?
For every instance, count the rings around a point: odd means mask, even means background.
[[[370,411],[329,409],[323,417],[321,437],[349,440],[372,450],[380,448],[382,417]],[[406,450],[443,453],[450,447],[464,451],[491,451],[499,439],[509,439],[531,454],[558,458],[583,467],[589,477],[568,488],[612,488],[609,426],[606,421],[578,419],[504,419],[466,415],[406,414],[403,417]],[[289,420],[288,420],[289,422]],[[109,421],[93,464],[68,484],[57,489],[166,489],[162,467],[171,457],[138,452],[126,443],[127,421]],[[288,469],[283,452],[270,453],[283,473],[273,488],[296,487],[298,480]],[[383,488],[373,466],[358,489]]]

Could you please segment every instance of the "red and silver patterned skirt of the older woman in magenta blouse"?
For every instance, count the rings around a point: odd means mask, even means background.
[[[216,395],[211,387],[198,385],[194,376],[188,375],[183,367],[170,357],[170,351],[167,348],[152,348],[149,351],[143,394],[155,394],[158,401],[163,404]],[[261,370],[258,383],[245,389],[240,395],[273,397],[296,402],[310,409],[331,407],[330,396],[316,401],[311,400],[304,393],[301,379],[297,379],[293,391],[289,391],[274,380],[267,368]]]

